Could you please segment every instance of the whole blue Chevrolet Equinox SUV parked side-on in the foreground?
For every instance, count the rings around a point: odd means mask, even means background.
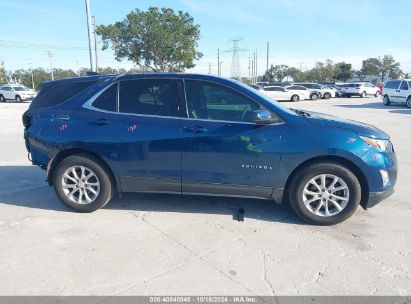
[[[45,82],[23,124],[33,164],[81,212],[115,193],[162,192],[290,203],[302,219],[332,225],[388,197],[397,177],[381,130],[206,75]]]

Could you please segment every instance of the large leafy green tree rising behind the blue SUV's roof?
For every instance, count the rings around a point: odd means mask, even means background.
[[[137,9],[123,21],[98,26],[96,32],[103,50],[111,45],[116,60],[131,60],[152,71],[184,71],[203,55],[196,50],[200,26],[188,13],[171,8]]]

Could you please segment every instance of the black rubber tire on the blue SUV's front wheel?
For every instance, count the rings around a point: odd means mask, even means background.
[[[314,184],[311,181],[322,175],[326,176],[326,187],[323,188],[321,185],[321,178],[315,180],[319,187],[313,187]],[[334,178],[338,178],[338,182],[335,184],[337,187],[335,188],[346,188],[329,194],[329,191],[333,190],[329,190],[327,187],[332,189]],[[308,189],[308,192],[305,192],[304,189]],[[322,190],[325,190],[325,192],[322,192]],[[294,176],[287,193],[295,213],[304,221],[314,225],[335,225],[345,221],[355,212],[361,201],[361,186],[357,177],[349,169],[337,163],[316,163],[304,167]],[[336,205],[331,203],[324,195],[330,198],[333,197],[341,210],[339,211]],[[332,195],[345,196],[346,199],[338,202],[338,199]],[[308,203],[308,207],[306,207],[305,204],[310,200],[313,201]],[[328,214],[326,206],[328,206]],[[317,211],[318,207],[320,208]]]

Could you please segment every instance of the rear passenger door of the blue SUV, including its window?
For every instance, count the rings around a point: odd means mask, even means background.
[[[181,193],[181,118],[171,79],[112,85],[91,105],[83,141],[104,155],[123,192]]]

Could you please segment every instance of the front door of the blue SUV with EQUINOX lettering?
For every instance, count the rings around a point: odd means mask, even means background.
[[[255,101],[211,82],[185,81],[182,192],[269,198],[276,183],[282,125],[256,125]]]

